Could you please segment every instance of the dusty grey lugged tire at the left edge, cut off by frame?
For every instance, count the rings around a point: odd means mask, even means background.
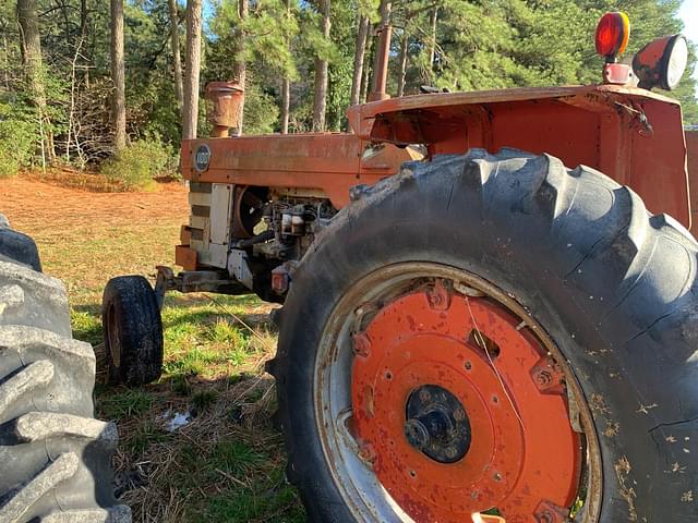
[[[95,354],[37,265],[31,239],[0,229],[0,522],[128,523],[113,498],[117,427],[93,417]]]

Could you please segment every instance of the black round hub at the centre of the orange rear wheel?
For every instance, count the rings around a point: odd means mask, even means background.
[[[423,385],[407,400],[405,437],[438,463],[455,463],[470,449],[470,419],[458,399],[437,385]]]

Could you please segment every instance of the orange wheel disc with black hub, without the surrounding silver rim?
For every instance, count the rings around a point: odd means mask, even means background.
[[[580,437],[562,372],[520,319],[437,280],[383,306],[353,346],[360,453],[412,520],[566,521]]]

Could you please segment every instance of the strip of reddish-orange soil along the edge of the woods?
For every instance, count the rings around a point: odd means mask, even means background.
[[[152,193],[95,193],[26,177],[0,179],[0,212],[14,229],[28,232],[79,223],[119,227],[172,218],[184,223],[189,214],[182,183],[159,184]]]

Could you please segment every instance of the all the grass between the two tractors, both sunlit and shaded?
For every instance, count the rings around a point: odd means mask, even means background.
[[[37,241],[45,271],[67,284],[74,337],[94,345],[103,341],[107,280],[171,264],[185,221],[181,210],[164,217],[160,207],[151,220],[120,221],[106,208],[109,220],[67,212],[63,222],[41,223],[29,209],[23,230]],[[163,312],[161,379],[136,389],[97,386],[97,416],[119,426],[117,490],[134,522],[305,521],[270,422],[274,384],[263,373],[276,345],[269,309],[254,296],[172,293]],[[170,431],[178,413],[190,422]]]

